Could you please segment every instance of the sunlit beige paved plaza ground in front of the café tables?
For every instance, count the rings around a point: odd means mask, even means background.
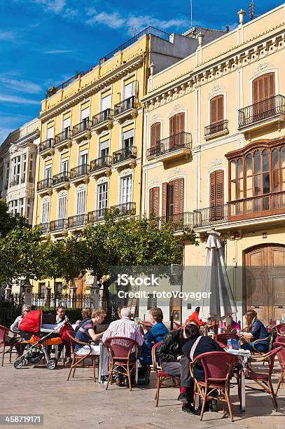
[[[0,414],[43,414],[44,427],[61,429],[172,429],[190,426],[195,429],[219,426],[285,429],[285,386],[277,398],[278,412],[273,411],[269,395],[246,390],[246,411],[242,413],[234,386],[230,394],[235,423],[231,423],[228,416],[223,417],[221,412],[207,412],[201,422],[199,416],[181,412],[181,404],[176,400],[178,389],[162,389],[159,406],[155,407],[154,373],[148,386],[135,386],[130,392],[115,384],[106,390],[106,385],[94,383],[90,368],[77,369],[75,378],[70,381],[67,381],[68,371],[61,364],[53,371],[39,365],[17,370],[6,359],[4,367],[0,367]],[[278,375],[279,370],[273,379],[275,388]]]

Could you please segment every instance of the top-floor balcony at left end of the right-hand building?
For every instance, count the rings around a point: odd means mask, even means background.
[[[155,147],[148,149],[147,158],[148,160],[155,158],[164,163],[181,156],[186,157],[187,160],[191,156],[191,148],[192,135],[190,132],[179,132],[166,139],[158,140]]]

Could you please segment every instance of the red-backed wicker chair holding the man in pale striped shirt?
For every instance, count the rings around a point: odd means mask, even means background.
[[[131,375],[136,369],[136,361],[141,354],[141,347],[130,338],[125,338],[124,336],[113,336],[104,341],[109,352],[109,377],[106,389],[109,386],[109,383],[112,384],[113,374],[118,374],[120,376],[127,376],[129,381],[129,388],[132,390],[132,381]],[[133,352],[136,351],[134,357]]]

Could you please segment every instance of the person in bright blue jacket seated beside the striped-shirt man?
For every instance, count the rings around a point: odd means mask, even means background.
[[[149,314],[151,316],[151,323],[153,324],[153,327],[149,332],[148,329],[146,329],[144,322],[140,322],[141,327],[144,329],[144,336],[146,337],[146,341],[141,346],[140,359],[142,367],[152,364],[151,349],[153,344],[163,341],[165,334],[168,332],[167,327],[162,323],[163,313],[161,308],[151,308]]]

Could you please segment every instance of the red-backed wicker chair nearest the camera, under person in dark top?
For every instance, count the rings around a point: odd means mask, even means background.
[[[204,381],[195,379],[194,367],[200,361],[204,369]],[[228,405],[228,411],[232,421],[232,406],[230,404],[230,375],[232,369],[238,364],[238,357],[226,352],[209,352],[202,353],[195,357],[193,362],[190,362],[190,374],[195,381],[194,402],[195,396],[200,396],[202,399],[202,410],[200,420],[203,418],[205,404],[208,400],[218,400],[225,402]],[[218,397],[214,396],[214,390],[218,390]]]

